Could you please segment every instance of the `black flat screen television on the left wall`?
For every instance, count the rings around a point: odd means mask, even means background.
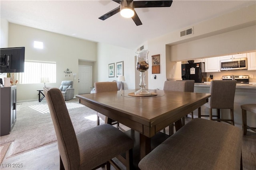
[[[0,49],[0,72],[24,72],[25,47]]]

